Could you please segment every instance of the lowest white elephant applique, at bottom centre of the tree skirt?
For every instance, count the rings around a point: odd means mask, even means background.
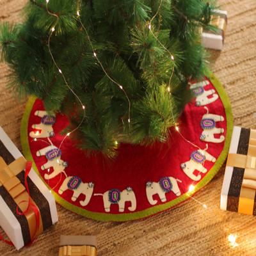
[[[106,212],[110,211],[111,204],[118,204],[119,212],[124,212],[125,202],[131,202],[128,207],[129,211],[135,211],[137,207],[136,196],[131,187],[120,191],[119,189],[111,189],[104,194],[94,194],[95,196],[103,196],[104,209]]]

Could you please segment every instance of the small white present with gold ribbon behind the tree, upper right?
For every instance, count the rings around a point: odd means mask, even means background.
[[[217,31],[202,31],[202,44],[206,48],[221,50],[223,48],[225,31],[227,28],[227,11],[214,10],[211,17],[210,24],[217,29]]]

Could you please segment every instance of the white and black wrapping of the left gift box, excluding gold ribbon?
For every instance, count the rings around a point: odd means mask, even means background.
[[[1,127],[0,156],[3,157],[3,159],[5,156],[4,161],[7,164],[10,164],[8,162],[10,162],[11,159],[13,159],[14,161],[15,159],[19,159],[20,157],[22,157],[22,154],[20,153],[18,148],[15,147],[13,142],[10,140],[10,138]],[[44,182],[40,179],[40,177],[38,177],[33,168],[31,168],[28,177],[30,196],[36,203],[38,209],[40,209],[42,228],[43,230],[45,230],[45,228],[54,225],[58,221],[56,202],[49,189],[45,186]],[[0,226],[3,228],[6,235],[10,238],[15,248],[19,250],[24,245],[29,243],[29,239],[31,239],[31,237],[28,236],[28,230],[25,230],[26,228],[24,227],[24,225],[28,227],[28,222],[26,222],[25,216],[17,216],[16,211],[13,211],[15,202],[8,194],[8,191],[5,190],[4,186],[1,186],[0,189]],[[35,196],[35,198],[33,196],[33,191],[37,191],[37,195]],[[42,202],[40,202],[40,200],[42,200]],[[40,204],[38,204],[38,202],[40,202]],[[11,203],[12,207],[10,207],[10,204],[8,203]]]

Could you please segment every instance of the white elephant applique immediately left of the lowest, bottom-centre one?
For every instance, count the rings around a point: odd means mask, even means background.
[[[94,184],[93,182],[83,183],[83,181],[77,176],[67,177],[60,186],[58,193],[63,194],[67,189],[73,191],[71,200],[75,202],[79,195],[85,195],[85,199],[79,201],[82,206],[89,204],[93,194]]]

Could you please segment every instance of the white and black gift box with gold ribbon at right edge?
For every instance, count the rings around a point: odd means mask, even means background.
[[[234,127],[221,191],[222,210],[256,215],[256,130]]]

